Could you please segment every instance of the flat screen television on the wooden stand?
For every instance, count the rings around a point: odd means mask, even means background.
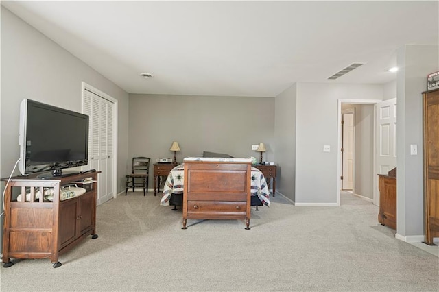
[[[88,164],[88,116],[31,99],[20,105],[22,175],[54,178],[79,173],[62,171]]]

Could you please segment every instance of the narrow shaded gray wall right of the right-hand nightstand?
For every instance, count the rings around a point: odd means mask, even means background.
[[[296,84],[276,97],[276,192],[296,200]]]

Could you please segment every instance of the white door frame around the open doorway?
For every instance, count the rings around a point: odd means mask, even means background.
[[[372,104],[375,105],[381,102],[381,99],[338,99],[338,108],[337,108],[337,206],[340,206],[340,193],[342,189],[342,180],[340,177],[342,176],[342,104]],[[377,149],[375,147],[375,132],[376,132],[376,122],[375,117],[377,112],[374,109],[374,122],[373,122],[373,133],[374,133],[374,141],[373,141],[373,169],[375,169],[375,160],[377,157]],[[373,197],[377,196],[377,188],[378,188],[378,179],[373,180]]]

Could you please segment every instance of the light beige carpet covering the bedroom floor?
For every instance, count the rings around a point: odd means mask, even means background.
[[[296,207],[282,197],[241,220],[188,220],[160,196],[97,208],[88,237],[49,260],[1,267],[1,291],[438,291],[439,258],[394,238],[377,206]]]

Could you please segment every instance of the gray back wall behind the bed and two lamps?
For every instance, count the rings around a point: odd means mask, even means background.
[[[254,156],[252,144],[265,143],[263,160],[274,160],[274,98],[130,94],[129,157],[174,158],[178,162],[203,151]],[[130,165],[126,165],[126,170]],[[152,171],[152,169],[150,170]],[[152,175],[150,175],[152,186]]]

